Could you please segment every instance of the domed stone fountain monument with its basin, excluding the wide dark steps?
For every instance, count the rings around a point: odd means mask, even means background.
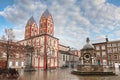
[[[93,45],[90,44],[90,40],[87,38],[86,44],[81,49],[81,64],[77,66],[77,70],[83,72],[103,71],[103,66],[97,65],[95,52]]]

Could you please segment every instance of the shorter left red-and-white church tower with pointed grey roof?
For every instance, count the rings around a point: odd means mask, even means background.
[[[28,39],[32,36],[38,35],[38,26],[33,18],[33,16],[27,21],[25,27],[25,39]]]

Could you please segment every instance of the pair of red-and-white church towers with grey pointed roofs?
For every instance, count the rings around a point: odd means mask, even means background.
[[[27,21],[25,27],[25,39],[42,34],[54,36],[54,22],[48,9],[46,9],[42,14],[39,21],[39,27],[37,26],[33,16]]]

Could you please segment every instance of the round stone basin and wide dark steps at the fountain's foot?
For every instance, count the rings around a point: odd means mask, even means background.
[[[81,76],[115,76],[116,74],[112,71],[104,71],[102,65],[78,65],[77,70],[71,72],[75,75]]]

